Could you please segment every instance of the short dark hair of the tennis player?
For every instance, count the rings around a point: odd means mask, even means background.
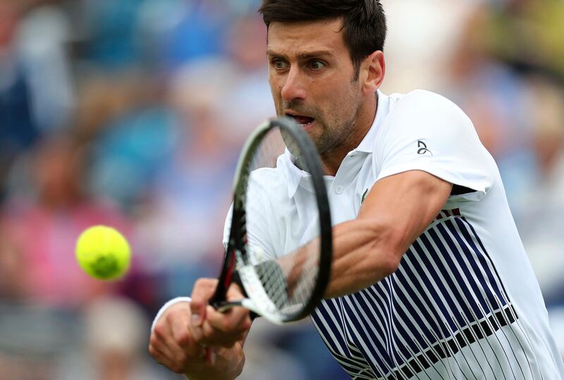
[[[266,27],[276,22],[343,18],[343,39],[355,66],[355,77],[364,58],[384,51],[387,27],[380,0],[262,0],[259,13]]]

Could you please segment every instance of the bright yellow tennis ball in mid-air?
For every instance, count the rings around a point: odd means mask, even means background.
[[[87,274],[103,280],[123,277],[130,265],[129,243],[116,229],[94,226],[76,242],[76,260]]]

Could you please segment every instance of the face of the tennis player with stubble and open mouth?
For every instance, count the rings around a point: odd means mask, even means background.
[[[342,21],[271,23],[269,84],[279,116],[298,121],[319,153],[350,151],[361,87],[343,41]]]

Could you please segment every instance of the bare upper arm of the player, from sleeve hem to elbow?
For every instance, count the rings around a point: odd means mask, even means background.
[[[392,251],[403,255],[439,214],[452,187],[422,170],[391,175],[372,186],[357,220],[386,229]]]

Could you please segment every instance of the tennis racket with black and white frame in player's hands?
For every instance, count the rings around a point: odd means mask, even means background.
[[[264,182],[273,176],[286,184],[280,160],[290,158],[301,170],[309,201],[317,208],[307,219],[307,242],[290,252],[274,255],[264,241]],[[277,162],[278,161],[278,162]],[[286,186],[286,185],[284,185]],[[247,139],[233,184],[233,213],[219,283],[210,305],[219,311],[243,306],[274,323],[292,322],[319,305],[331,272],[331,214],[321,160],[307,133],[291,118],[276,118],[259,125]],[[293,232],[287,232],[293,233]],[[226,301],[235,281],[246,298]]]

